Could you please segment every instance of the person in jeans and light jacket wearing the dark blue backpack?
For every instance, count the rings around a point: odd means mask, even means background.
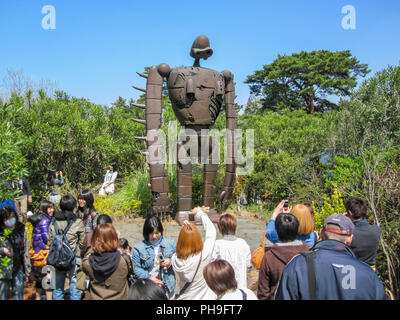
[[[83,246],[85,228],[83,226],[83,221],[81,219],[78,219],[78,217],[74,213],[74,210],[76,208],[76,199],[72,195],[68,194],[61,198],[60,208],[61,212],[56,212],[54,214],[53,222],[50,224],[48,243],[50,246],[56,236],[56,229],[54,227],[55,223],[57,223],[57,226],[62,232],[64,232],[67,226],[70,225],[70,228],[66,233],[66,238],[72,251],[75,252],[76,257],[74,261],[74,266],[67,273],[61,270],[55,270],[56,288],[53,290],[53,299],[64,300],[65,277],[68,274],[70,300],[80,300],[82,292],[76,289],[76,273],[78,268],[77,264],[82,261],[80,255]]]

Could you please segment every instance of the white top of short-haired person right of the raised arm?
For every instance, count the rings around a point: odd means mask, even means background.
[[[241,238],[225,235],[215,242],[213,261],[224,259],[235,271],[239,288],[247,288],[247,269],[251,267],[251,252],[247,242]]]

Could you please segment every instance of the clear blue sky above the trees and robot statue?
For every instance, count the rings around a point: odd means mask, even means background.
[[[56,9],[56,29],[42,28],[42,8]],[[356,10],[356,29],[342,28],[342,7]],[[0,78],[7,69],[60,90],[110,105],[137,99],[144,86],[135,71],[162,62],[192,65],[189,51],[200,34],[214,54],[201,65],[231,70],[237,102],[249,97],[246,77],[278,54],[351,50],[369,76],[400,62],[397,0],[1,0]]]

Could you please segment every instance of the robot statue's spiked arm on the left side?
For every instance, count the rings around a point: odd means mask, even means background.
[[[146,89],[134,87],[137,90],[146,93],[146,104],[133,104],[145,110],[145,120],[133,119],[134,121],[146,126],[146,137],[136,137],[139,140],[146,141],[147,151],[141,152],[149,156],[150,184],[152,192],[152,211],[153,213],[165,213],[170,211],[170,199],[168,197],[168,173],[163,163],[152,161],[152,153],[157,152],[157,148],[162,146],[162,141],[157,136],[156,130],[161,127],[162,116],[162,85],[164,77],[167,77],[170,67],[163,63],[159,66],[150,68],[148,74],[139,73],[141,77],[147,78]],[[153,131],[154,130],[154,131]],[[151,152],[153,151],[153,152]]]

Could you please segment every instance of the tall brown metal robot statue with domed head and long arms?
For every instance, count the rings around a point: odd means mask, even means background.
[[[149,148],[157,147],[162,142],[159,139],[150,139],[149,132],[161,127],[162,119],[162,91],[163,81],[167,82],[168,94],[174,113],[185,129],[192,129],[198,135],[198,150],[208,148],[209,154],[213,154],[213,144],[204,143],[211,136],[202,135],[216,121],[221,108],[225,105],[226,132],[227,132],[227,156],[225,180],[222,191],[217,199],[219,201],[219,213],[226,210],[232,198],[235,182],[236,165],[234,161],[234,130],[237,128],[237,114],[234,109],[235,87],[233,75],[225,70],[215,70],[200,67],[200,59],[206,60],[213,54],[210,42],[204,35],[195,39],[190,55],[195,59],[192,67],[178,67],[171,69],[168,64],[162,63],[150,68],[147,74],[137,72],[147,79],[146,88],[135,89],[146,93],[146,104],[133,104],[145,110],[145,120],[133,119],[146,126],[146,137],[136,137],[146,141],[148,150],[142,152],[149,155]],[[196,138],[196,139],[197,139]],[[204,140],[206,139],[206,140]],[[188,139],[178,142],[177,145],[177,181],[178,181],[178,213],[177,221],[182,225],[183,220],[191,220],[189,212],[192,209],[192,163],[184,161],[193,157],[187,148]],[[215,146],[214,146],[215,148]],[[218,163],[210,159],[204,163],[203,173],[203,206],[210,207],[208,213],[213,222],[217,222],[219,213],[215,209],[216,187],[214,184],[217,176]],[[164,164],[149,161],[150,184],[152,191],[152,211],[155,214],[170,212],[170,198],[168,196],[168,173]]]

